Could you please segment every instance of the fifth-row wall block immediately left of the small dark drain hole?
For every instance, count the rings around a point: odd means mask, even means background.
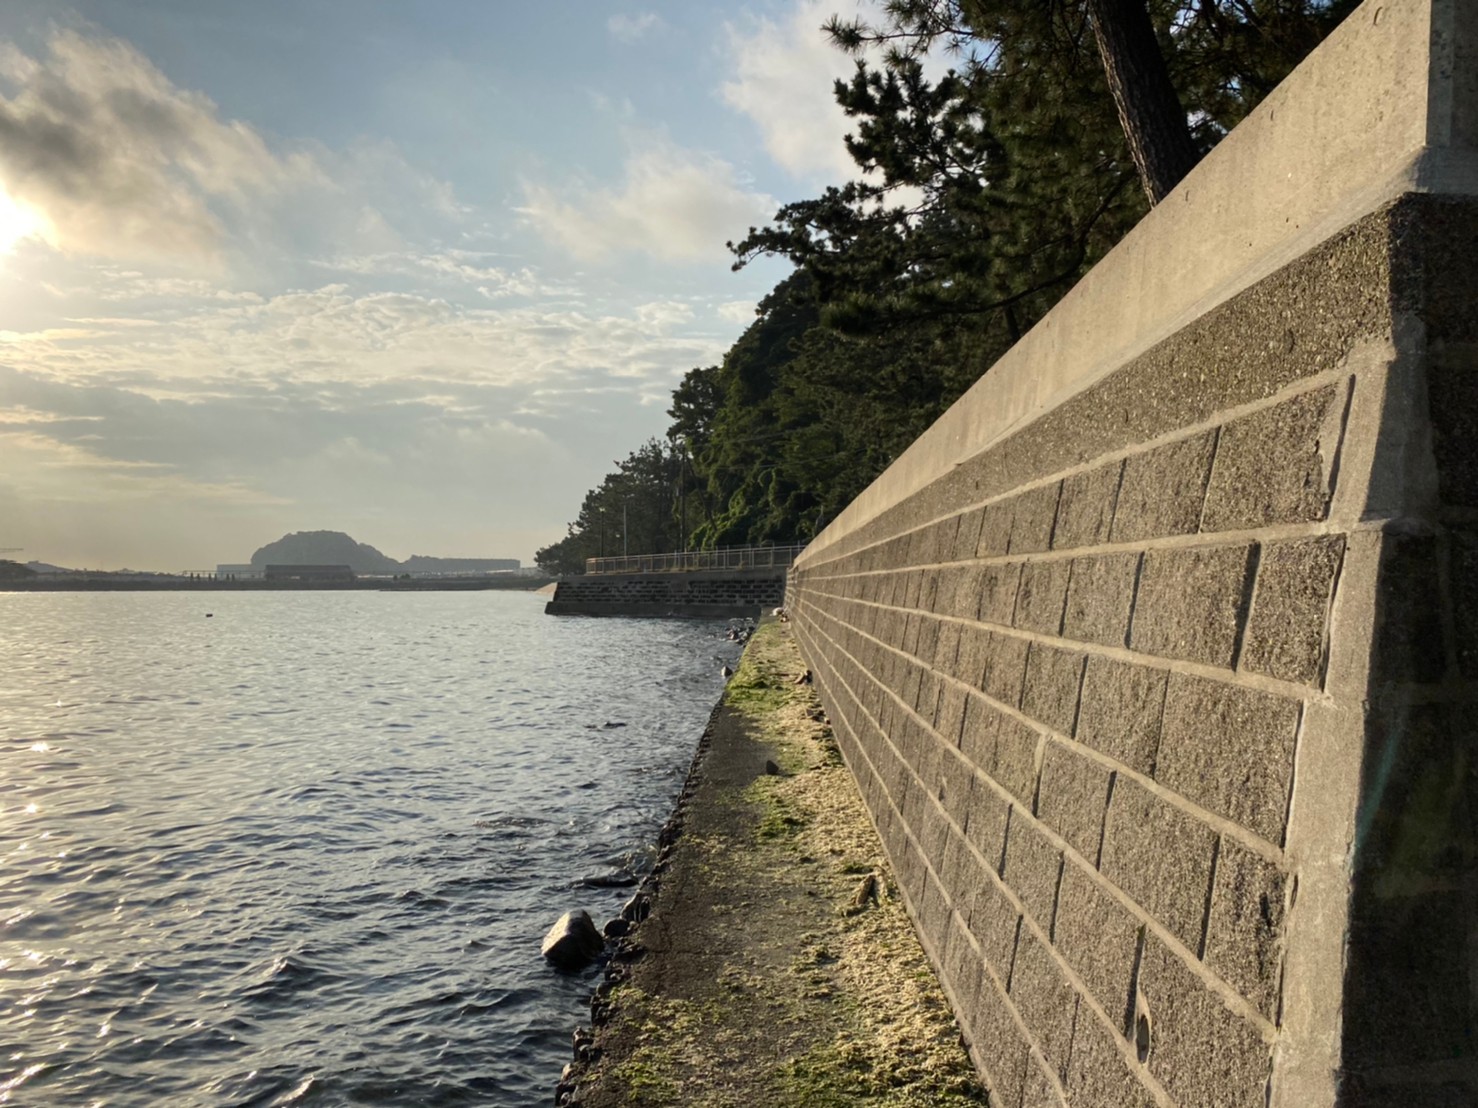
[[[1083,979],[1094,1000],[1129,1027],[1134,1003],[1134,959],[1144,925],[1097,880],[1072,863],[1063,866],[1052,944]]]

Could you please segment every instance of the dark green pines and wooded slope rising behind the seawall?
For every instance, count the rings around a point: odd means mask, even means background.
[[[859,179],[729,244],[736,269],[794,272],[539,566],[808,541],[1354,6],[891,0],[834,21],[859,55],[835,86]],[[940,44],[955,65],[930,80]]]

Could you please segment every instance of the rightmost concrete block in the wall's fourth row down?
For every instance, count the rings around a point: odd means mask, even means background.
[[[1270,1021],[1277,1018],[1287,878],[1233,839],[1221,841],[1206,922],[1206,965]]]

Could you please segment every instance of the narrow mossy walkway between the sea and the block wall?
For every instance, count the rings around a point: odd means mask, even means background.
[[[565,1104],[986,1104],[801,672],[786,626],[766,620]]]

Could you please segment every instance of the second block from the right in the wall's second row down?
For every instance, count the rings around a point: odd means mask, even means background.
[[[1145,553],[1129,646],[1230,668],[1246,616],[1250,558],[1247,544]]]

